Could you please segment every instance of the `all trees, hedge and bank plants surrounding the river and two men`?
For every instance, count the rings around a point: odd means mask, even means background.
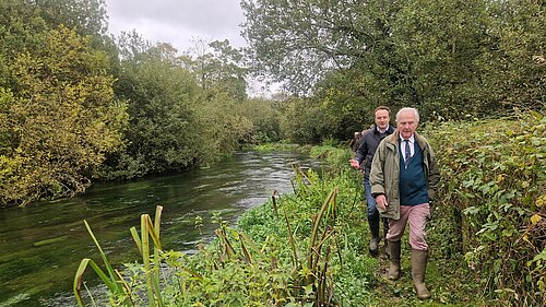
[[[0,206],[206,166],[246,144],[337,144],[378,105],[417,107],[442,167],[425,304],[546,300],[544,1],[240,2],[249,47],[198,39],[192,54],[109,36],[104,0],[0,1]],[[248,97],[251,75],[286,92]],[[298,170],[293,196],[237,228],[218,216],[218,239],[195,256],[161,250],[159,221],[144,219],[143,264],[100,274],[111,305],[415,304],[407,276],[385,281],[361,246],[349,153],[313,151],[333,154],[329,172]]]

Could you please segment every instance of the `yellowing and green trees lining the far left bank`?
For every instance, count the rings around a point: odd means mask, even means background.
[[[197,55],[107,35],[103,0],[0,2],[0,206],[177,172],[278,140],[227,40]]]

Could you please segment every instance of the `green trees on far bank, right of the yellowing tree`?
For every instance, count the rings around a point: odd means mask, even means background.
[[[197,59],[179,57],[169,44],[151,46],[134,32],[118,44],[116,93],[129,102],[131,119],[127,150],[110,156],[104,177],[187,169],[218,161],[242,143],[278,140],[273,106],[244,101],[241,56],[228,42],[212,43],[215,51]],[[240,80],[232,84],[234,78]]]

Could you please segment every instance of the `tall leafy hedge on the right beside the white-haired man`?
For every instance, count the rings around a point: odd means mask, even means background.
[[[487,294],[518,306],[544,300],[546,117],[446,122],[426,133],[443,180],[436,224],[446,257],[466,261]],[[436,215],[437,213],[435,213]]]

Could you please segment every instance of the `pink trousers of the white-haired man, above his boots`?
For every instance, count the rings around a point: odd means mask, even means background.
[[[428,203],[417,205],[401,205],[400,220],[389,219],[387,239],[397,241],[404,235],[406,224],[410,224],[410,245],[415,250],[428,250],[425,227],[430,217]]]

